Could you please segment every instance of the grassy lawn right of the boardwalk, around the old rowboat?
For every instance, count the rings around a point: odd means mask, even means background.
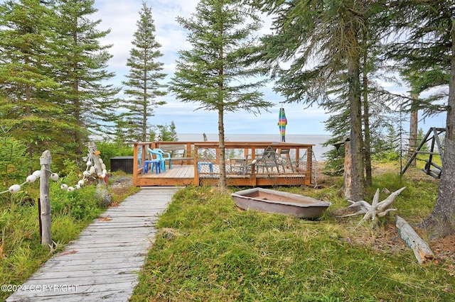
[[[407,186],[394,203],[407,220],[432,210],[435,181],[389,173],[374,182],[390,191]],[[317,221],[240,211],[213,187],[179,191],[131,301],[454,301],[454,259],[419,265],[391,216],[375,226],[337,218],[347,206],[339,184],[289,189],[333,203]]]

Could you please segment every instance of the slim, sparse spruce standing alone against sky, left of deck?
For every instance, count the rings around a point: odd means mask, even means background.
[[[132,41],[134,47],[129,52],[127,66],[128,80],[122,82],[128,88],[124,89],[127,96],[124,107],[128,112],[124,114],[127,129],[127,141],[147,141],[150,135],[149,118],[154,116],[156,106],[166,104],[165,101],[156,100],[159,96],[166,95],[162,90],[165,85],[160,80],[166,77],[162,73],[164,63],[157,61],[162,56],[159,51],[161,45],[156,42],[154,20],[151,8],[142,3],[137,21],[137,30]]]

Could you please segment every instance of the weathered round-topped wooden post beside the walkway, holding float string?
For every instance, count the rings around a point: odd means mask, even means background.
[[[49,198],[49,178],[50,178],[50,152],[45,150],[40,157],[41,178],[40,178],[40,220],[41,220],[41,245],[51,248],[52,237],[50,236],[50,198]]]

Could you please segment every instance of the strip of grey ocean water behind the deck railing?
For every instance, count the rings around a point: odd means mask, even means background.
[[[206,134],[210,142],[218,142],[218,134]],[[178,140],[185,142],[203,142],[203,134],[177,134]],[[298,142],[301,144],[314,145],[313,152],[316,160],[324,160],[323,153],[331,150],[331,146],[323,147],[324,142],[330,140],[331,135],[286,135],[286,142]],[[225,140],[230,142],[279,142],[277,134],[226,134]]]

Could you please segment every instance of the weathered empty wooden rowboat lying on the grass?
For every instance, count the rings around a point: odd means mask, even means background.
[[[309,196],[252,188],[231,194],[235,204],[245,210],[279,213],[296,218],[320,218],[332,203]]]

